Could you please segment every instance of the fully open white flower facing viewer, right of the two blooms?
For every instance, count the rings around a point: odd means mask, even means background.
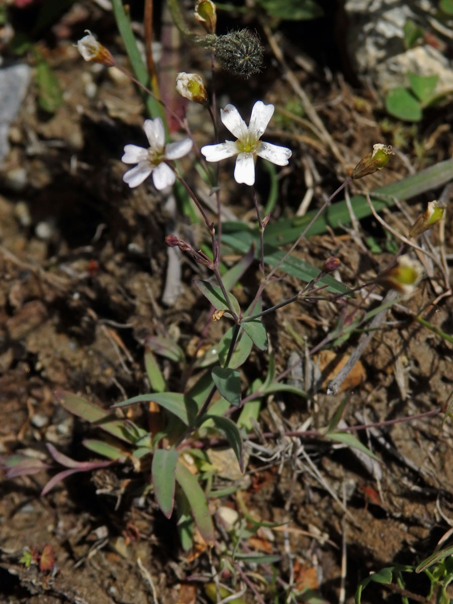
[[[237,155],[234,179],[238,183],[254,184],[255,156],[259,155],[277,165],[287,165],[291,157],[291,149],[260,141],[273,113],[274,105],[257,101],[247,127],[236,107],[226,105],[225,109],[220,109],[220,117],[223,125],[237,138],[236,142],[225,141],[217,145],[207,145],[201,148],[201,152],[207,161],[220,161]]]

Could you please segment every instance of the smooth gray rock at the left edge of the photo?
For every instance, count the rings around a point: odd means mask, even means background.
[[[26,63],[0,67],[0,163],[10,150],[10,125],[21,108],[30,76],[31,69]]]

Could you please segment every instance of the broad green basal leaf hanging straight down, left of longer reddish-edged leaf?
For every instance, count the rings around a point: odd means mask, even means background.
[[[156,501],[164,516],[170,518],[175,503],[175,472],[179,451],[156,449],[153,455],[151,475]]]

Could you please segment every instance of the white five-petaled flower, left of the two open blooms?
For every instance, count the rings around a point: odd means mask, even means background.
[[[125,164],[137,164],[134,168],[127,170],[123,176],[123,181],[130,188],[138,187],[141,183],[153,174],[153,182],[159,191],[165,187],[170,187],[175,180],[175,172],[165,161],[179,159],[192,148],[190,138],[184,138],[177,143],[165,145],[165,130],[161,118],[155,120],[145,120],[143,129],[149,142],[148,149],[138,147],[137,145],[126,145],[124,155],[121,158]]]

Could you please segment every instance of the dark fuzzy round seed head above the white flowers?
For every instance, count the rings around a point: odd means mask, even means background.
[[[260,72],[263,47],[257,34],[252,31],[231,31],[224,36],[213,36],[210,47],[223,69],[235,76],[249,78]]]

